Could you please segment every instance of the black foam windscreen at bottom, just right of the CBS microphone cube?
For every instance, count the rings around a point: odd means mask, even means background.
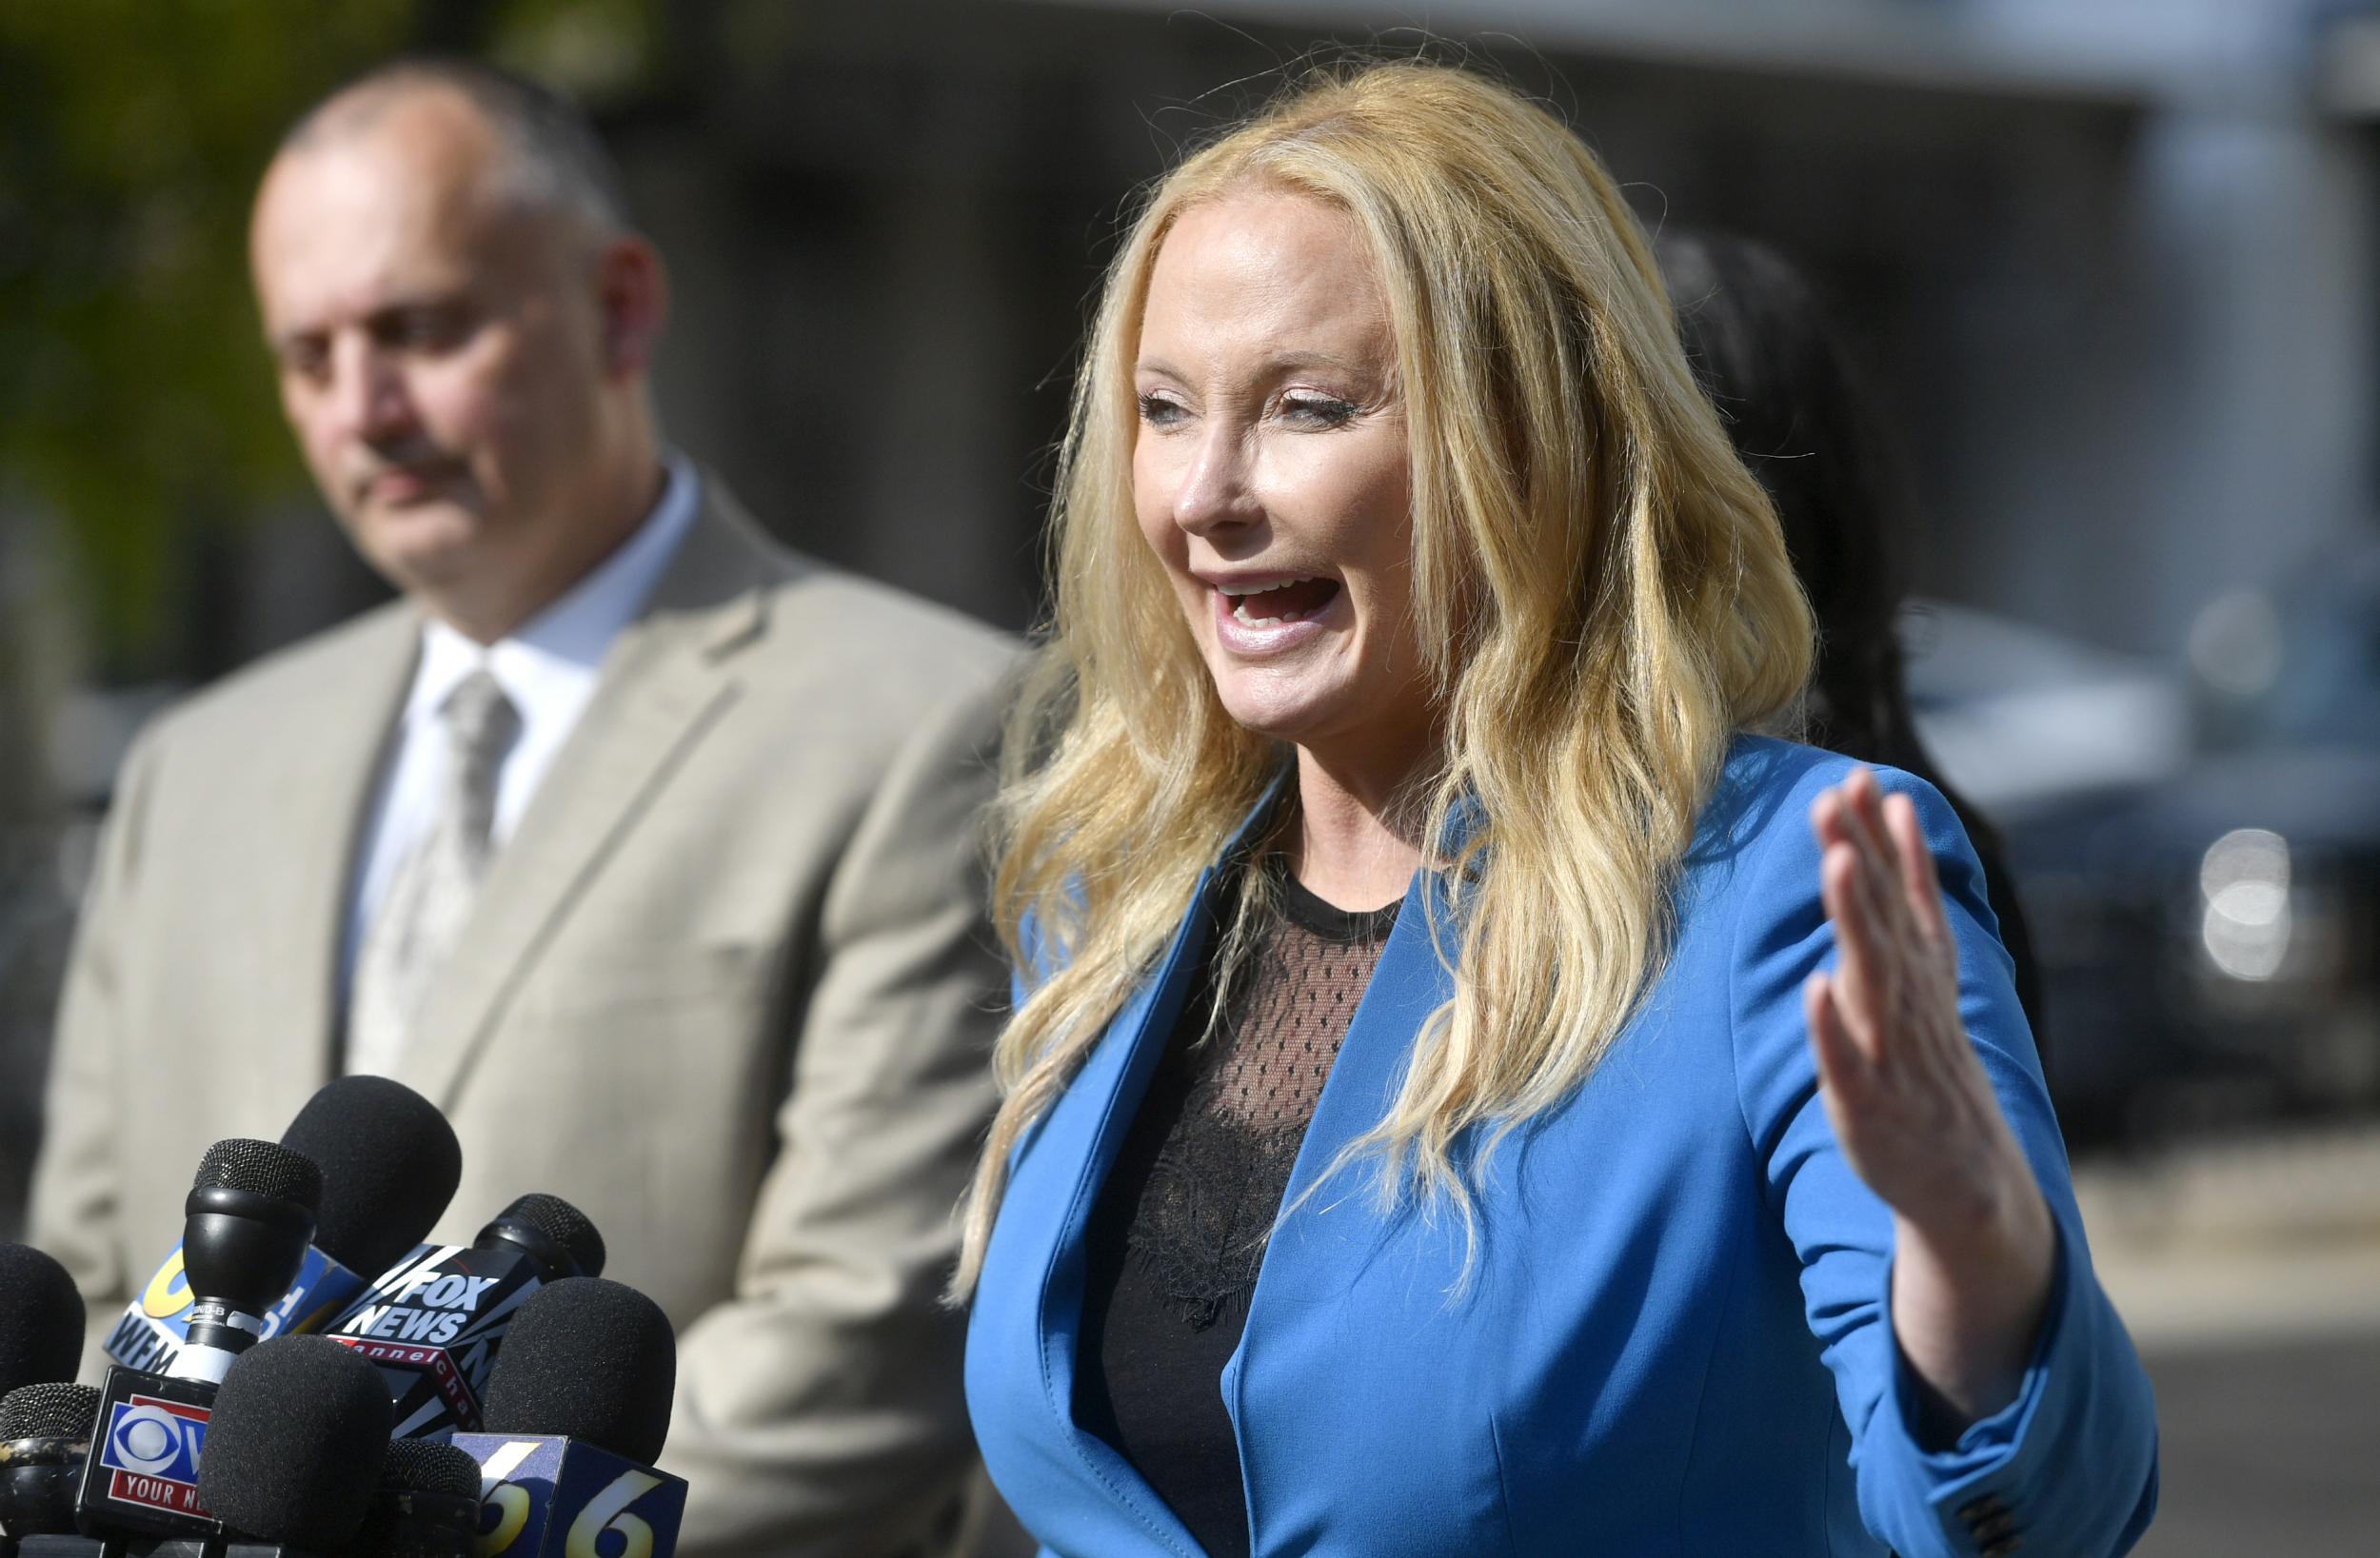
[[[214,1394],[198,1496],[248,1537],[336,1551],[371,1506],[388,1456],[381,1370],[328,1337],[274,1337]]]

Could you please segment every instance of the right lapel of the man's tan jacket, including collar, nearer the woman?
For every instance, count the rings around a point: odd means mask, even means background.
[[[793,564],[704,480],[704,507],[645,611],[605,657],[576,730],[481,882],[397,1080],[450,1108],[521,978],[685,752],[735,702],[731,654],[766,626],[764,583]]]

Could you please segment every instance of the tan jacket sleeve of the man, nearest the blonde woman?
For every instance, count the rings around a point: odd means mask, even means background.
[[[919,1551],[973,1465],[954,1206],[992,1111],[978,811],[995,704],[919,721],[788,956],[790,1087],[738,1294],[678,1342],[681,1553]]]

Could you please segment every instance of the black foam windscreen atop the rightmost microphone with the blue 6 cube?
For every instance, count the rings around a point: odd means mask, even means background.
[[[528,1294],[488,1377],[490,1434],[585,1439],[652,1465],[669,1439],[678,1334],[626,1282],[566,1277]]]

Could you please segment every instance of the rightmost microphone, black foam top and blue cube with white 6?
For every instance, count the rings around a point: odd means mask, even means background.
[[[578,1277],[531,1294],[488,1380],[488,1432],[455,1434],[478,1460],[478,1556],[669,1558],[685,1482],[650,1463],[676,1380],[669,1315],[633,1287]]]

